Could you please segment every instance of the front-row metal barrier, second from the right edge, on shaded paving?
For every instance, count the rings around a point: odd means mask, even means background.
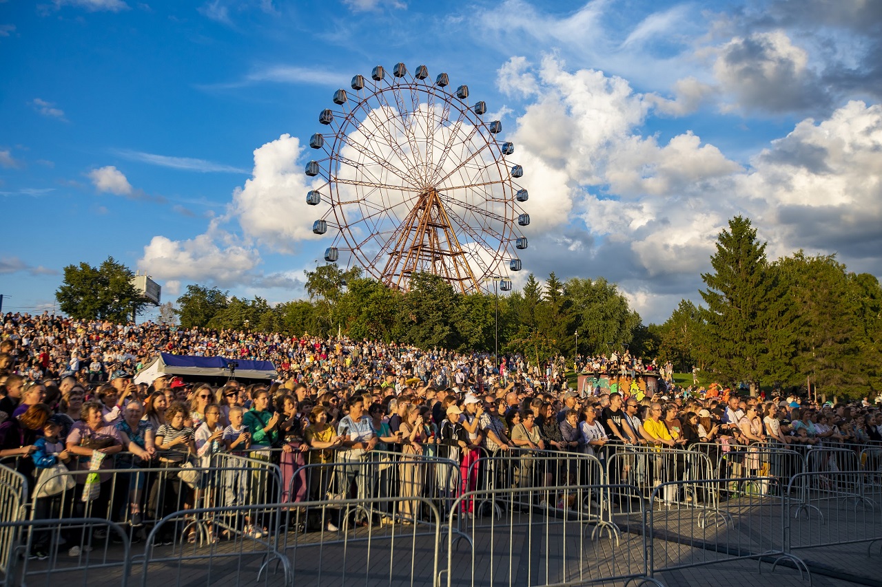
[[[743,490],[725,492],[719,508],[702,519],[699,509],[669,506],[666,495],[687,489],[713,493],[724,481]],[[787,504],[774,480],[760,478],[668,481],[655,487],[648,512],[647,560],[651,575],[741,559],[773,563],[788,559],[808,574],[804,562],[786,549],[784,519]],[[703,488],[702,488],[703,487]]]

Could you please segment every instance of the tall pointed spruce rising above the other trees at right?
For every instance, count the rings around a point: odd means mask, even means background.
[[[707,304],[702,314],[706,329],[706,369],[729,383],[758,382],[759,356],[765,352],[759,317],[765,312],[766,243],[757,240],[750,219],[729,220],[711,256],[713,273],[702,273],[707,289],[699,292]]]

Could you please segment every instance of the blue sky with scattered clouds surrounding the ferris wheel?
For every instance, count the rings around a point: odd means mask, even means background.
[[[304,145],[335,89],[399,61],[502,120],[523,277],[605,277],[663,321],[737,213],[771,256],[879,276],[880,29],[863,0],[0,0],[4,309],[51,308],[64,265],[108,255],[166,301],[303,297],[330,242]]]

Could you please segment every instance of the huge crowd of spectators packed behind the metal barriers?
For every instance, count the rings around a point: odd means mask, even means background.
[[[160,352],[271,360],[279,379],[212,385],[160,375],[149,384],[133,383],[138,369]],[[581,366],[594,364],[602,369],[624,363],[622,357],[601,357]],[[82,514],[91,500],[93,507],[110,504],[110,516],[132,527],[145,516],[167,513],[156,509],[156,494],[174,493],[178,505],[192,507],[208,481],[184,482],[186,476],[176,473],[174,487],[167,487],[168,479],[130,475],[120,488],[107,482],[109,475],[102,478],[102,470],[208,470],[217,455],[247,456],[278,464],[282,500],[303,502],[365,491],[419,496],[428,491],[427,477],[408,463],[438,457],[460,467],[455,484],[437,476],[433,481],[436,494],[453,498],[475,489],[482,457],[522,451],[606,457],[610,450],[641,445],[882,445],[882,411],[866,398],[818,405],[796,396],[764,401],[675,386],[641,398],[600,387],[577,392],[568,388],[561,363],[530,365],[519,356],[497,365],[486,353],[89,323],[48,314],[3,317],[0,395],[0,459],[31,479],[32,491],[37,487],[36,515],[65,508]],[[372,452],[397,455],[396,487],[364,487],[363,467],[354,464]],[[69,503],[53,503],[51,495],[39,495],[40,479],[59,464],[99,472],[97,482],[78,476],[76,486],[68,487]],[[303,476],[306,465],[315,472],[309,479]],[[223,505],[266,498],[246,495],[241,473],[212,482],[223,486],[216,498]],[[403,519],[418,516],[411,508],[402,505]],[[474,504],[462,502],[458,513],[474,516]],[[340,519],[323,517],[320,524],[323,531],[337,531]],[[257,524],[246,531],[264,530]],[[34,556],[45,555],[43,546],[35,544]],[[73,544],[69,554],[83,547]]]

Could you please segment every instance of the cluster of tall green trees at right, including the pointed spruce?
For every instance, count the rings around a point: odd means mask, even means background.
[[[705,305],[681,301],[650,325],[661,360],[699,365],[714,379],[782,388],[806,379],[828,395],[882,390],[882,288],[848,272],[835,256],[798,251],[774,261],[751,221],[736,217],[719,235],[713,272],[701,277]]]

